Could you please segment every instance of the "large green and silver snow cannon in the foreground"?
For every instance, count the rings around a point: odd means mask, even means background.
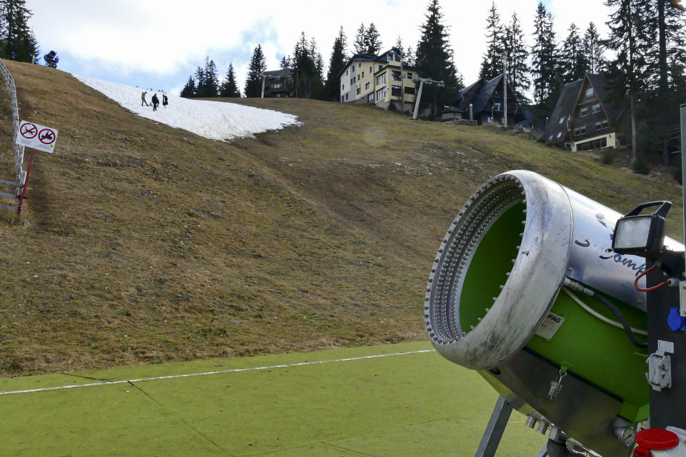
[[[645,258],[612,251],[620,217],[508,171],[459,210],[432,265],[424,323],[434,347],[477,370],[527,426],[550,430],[550,455],[556,440],[630,456],[649,416]]]

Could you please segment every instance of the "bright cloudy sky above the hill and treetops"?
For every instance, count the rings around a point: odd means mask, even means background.
[[[502,21],[516,11],[531,39],[538,0],[495,0]],[[162,89],[178,94],[189,75],[214,59],[219,76],[229,62],[240,87],[252,51],[262,44],[268,69],[278,69],[292,54],[302,31],[314,37],[328,64],[339,27],[347,34],[348,52],[359,24],[374,22],[384,49],[402,38],[417,47],[419,26],[428,0],[273,1],[255,4],[236,0],[27,0],[33,11],[29,25],[42,53],[54,49],[58,68],[107,81]],[[443,24],[449,26],[455,64],[471,84],[485,51],[484,26],[490,0],[442,0]],[[602,35],[608,10],[603,0],[544,0],[555,16],[558,39],[573,22],[585,31],[594,21]]]

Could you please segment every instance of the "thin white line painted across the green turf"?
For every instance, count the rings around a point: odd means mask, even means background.
[[[173,374],[173,375],[169,375],[169,376],[156,376],[154,378],[122,379],[120,381],[101,381],[99,383],[74,384],[71,386],[30,388],[30,389],[26,389],[25,391],[0,392],[0,395],[11,395],[14,393],[61,391],[61,390],[64,390],[66,388],[111,386],[113,384],[139,383],[141,381],[159,381],[160,379],[191,378],[193,376],[207,376],[210,374],[239,373],[241,371],[272,370],[274,368],[289,368],[292,366],[321,365],[323,363],[351,362],[351,361],[356,361],[356,360],[365,360],[368,358],[407,356],[408,354],[421,354],[421,353],[427,353],[427,352],[434,352],[434,350],[433,349],[423,349],[422,351],[407,351],[407,352],[396,352],[396,353],[391,353],[391,354],[376,354],[374,356],[360,356],[360,357],[349,357],[349,358],[336,358],[334,360],[320,360],[320,361],[312,361],[312,362],[287,363],[285,365],[252,366],[249,368],[232,368],[231,370],[205,371],[204,373],[187,373],[187,374]]]

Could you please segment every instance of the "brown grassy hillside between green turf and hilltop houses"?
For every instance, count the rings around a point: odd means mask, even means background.
[[[359,106],[241,100],[303,125],[210,141],[61,71],[8,66],[21,119],[59,139],[36,153],[21,220],[0,214],[2,376],[422,339],[449,221],[509,169],[618,211],[680,202],[592,158]],[[4,90],[0,114],[10,179]]]

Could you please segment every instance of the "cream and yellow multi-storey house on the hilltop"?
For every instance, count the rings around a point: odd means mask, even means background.
[[[414,106],[417,74],[412,66],[404,64],[397,48],[378,56],[355,54],[339,72],[341,103],[374,104],[389,109],[391,104],[402,111]]]

